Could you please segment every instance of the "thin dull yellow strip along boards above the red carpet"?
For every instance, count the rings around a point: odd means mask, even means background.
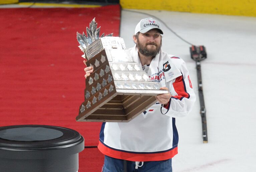
[[[71,7],[71,8],[98,8],[101,5],[83,5],[83,4],[54,4],[54,3],[31,3],[31,2],[20,2],[19,5],[26,6],[48,6],[48,7]]]

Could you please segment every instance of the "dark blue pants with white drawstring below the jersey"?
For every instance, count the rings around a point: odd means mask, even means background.
[[[105,156],[102,172],[124,172],[124,160]],[[140,162],[139,166],[142,165]],[[134,161],[126,161],[127,172],[172,172],[172,159],[164,161],[146,161],[135,169]]]

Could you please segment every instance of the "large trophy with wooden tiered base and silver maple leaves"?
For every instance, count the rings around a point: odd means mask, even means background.
[[[120,37],[99,37],[95,18],[86,35],[77,32],[86,65],[93,73],[86,78],[84,102],[77,121],[128,122],[156,103],[155,95],[168,93],[151,82],[141,64],[133,61]]]

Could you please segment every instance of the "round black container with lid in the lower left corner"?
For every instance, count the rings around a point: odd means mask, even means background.
[[[0,127],[1,172],[77,172],[84,139],[75,130],[48,125]]]

